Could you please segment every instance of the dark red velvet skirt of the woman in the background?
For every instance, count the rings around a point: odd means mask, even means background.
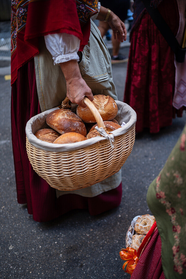
[[[176,0],[164,0],[159,11],[174,34],[179,27]],[[150,133],[172,124],[182,116],[183,108],[172,106],[175,87],[174,53],[148,13],[133,30],[128,62],[124,102],[137,114],[136,132],[149,128]],[[185,109],[185,107],[184,107]]]

